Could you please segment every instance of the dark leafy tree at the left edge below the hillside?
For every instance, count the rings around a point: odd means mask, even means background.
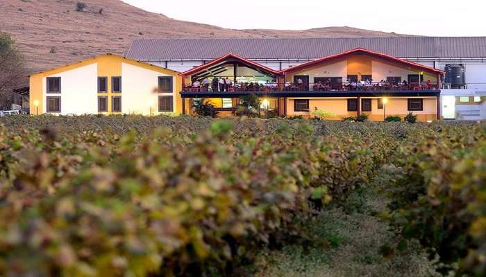
[[[25,86],[25,78],[24,56],[10,35],[0,33],[0,109],[10,109],[13,89]]]

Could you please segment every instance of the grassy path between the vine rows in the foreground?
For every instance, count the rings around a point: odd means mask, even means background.
[[[257,276],[437,276],[418,243],[393,258],[383,258],[380,246],[394,240],[388,225],[378,217],[386,199],[371,190],[357,191],[340,207],[321,212],[309,224],[312,233],[330,242],[330,248],[292,245],[262,253],[255,264]],[[346,210],[346,211],[344,211]]]

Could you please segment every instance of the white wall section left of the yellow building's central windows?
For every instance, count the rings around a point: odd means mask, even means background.
[[[61,78],[61,93],[47,93],[47,77]],[[60,114],[97,114],[98,113],[98,64],[89,64],[62,73],[42,78],[42,95],[46,105],[47,96],[61,97]]]

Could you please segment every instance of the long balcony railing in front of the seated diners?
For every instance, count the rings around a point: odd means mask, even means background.
[[[242,92],[242,91],[421,91],[439,90],[437,82],[422,83],[388,83],[388,82],[353,82],[353,83],[265,83],[265,84],[224,84],[212,86],[211,84],[185,85],[184,92]]]

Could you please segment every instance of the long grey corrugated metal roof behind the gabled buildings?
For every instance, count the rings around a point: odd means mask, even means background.
[[[315,59],[354,48],[395,57],[486,57],[486,37],[366,37],[305,39],[135,39],[135,60],[212,60],[227,53],[249,59]]]

